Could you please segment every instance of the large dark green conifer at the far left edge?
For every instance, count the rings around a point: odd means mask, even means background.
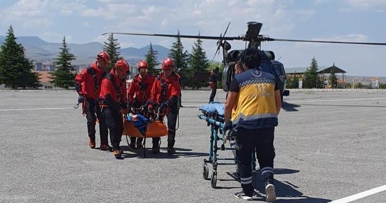
[[[24,47],[16,43],[13,27],[9,26],[6,39],[0,51],[0,84],[18,87],[40,86],[38,74],[32,72],[32,62],[25,57]]]

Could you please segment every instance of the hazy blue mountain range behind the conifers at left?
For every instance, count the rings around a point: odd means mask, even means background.
[[[0,35],[0,44],[3,44],[5,36]],[[25,48],[26,57],[35,61],[53,61],[61,51],[62,43],[46,42],[37,36],[18,36],[17,43]],[[167,57],[169,49],[161,45],[152,45],[154,50],[158,51],[158,60],[161,61]],[[142,48],[127,47],[121,48],[121,56],[131,64],[136,64],[139,60],[145,58],[150,45]],[[76,60],[73,65],[90,64],[95,61],[96,54],[103,49],[103,44],[99,42],[90,42],[86,44],[69,43],[70,53],[74,54]]]

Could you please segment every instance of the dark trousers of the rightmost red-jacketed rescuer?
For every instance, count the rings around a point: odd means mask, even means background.
[[[167,117],[167,147],[174,147],[174,143],[176,142],[176,124],[177,124],[177,116],[178,116],[178,106],[177,104],[170,106],[169,112],[166,115]],[[153,138],[153,146],[158,146],[160,142],[159,137]]]

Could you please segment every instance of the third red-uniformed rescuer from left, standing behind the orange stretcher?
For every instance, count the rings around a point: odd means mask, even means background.
[[[152,114],[147,112],[147,106],[150,99],[150,91],[153,86],[156,77],[147,73],[148,65],[146,61],[140,61],[137,64],[138,75],[131,82],[129,89],[127,90],[128,108],[132,108],[133,114],[141,114],[146,118],[150,118]],[[142,138],[130,137],[129,148],[131,150],[142,148]]]

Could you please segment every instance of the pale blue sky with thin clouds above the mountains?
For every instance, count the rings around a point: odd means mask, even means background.
[[[276,39],[386,43],[386,0],[0,0],[0,35],[12,25],[16,36],[38,36],[47,42],[106,41],[104,32],[138,32],[219,36],[245,34],[246,23],[263,23],[260,34]],[[122,48],[175,39],[115,35]],[[195,40],[182,40],[189,52]],[[242,49],[245,42],[229,42]],[[203,47],[211,61],[216,41]],[[386,76],[386,46],[263,42],[285,68],[334,63],[350,76]],[[99,50],[95,50],[95,53]],[[161,60],[161,59],[160,59]],[[216,56],[215,61],[221,61]]]

